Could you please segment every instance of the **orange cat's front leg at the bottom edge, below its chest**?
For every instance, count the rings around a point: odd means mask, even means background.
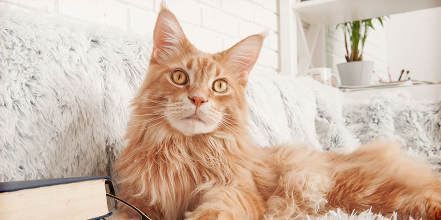
[[[186,220],[253,220],[261,219],[264,212],[264,201],[255,189],[218,186],[206,192],[200,205],[185,216]]]

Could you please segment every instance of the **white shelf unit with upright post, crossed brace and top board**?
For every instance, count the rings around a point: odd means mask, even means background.
[[[439,7],[441,0],[280,0],[279,4],[281,73],[299,75],[314,67],[314,52],[325,52],[324,25]],[[309,24],[307,31],[302,21]]]

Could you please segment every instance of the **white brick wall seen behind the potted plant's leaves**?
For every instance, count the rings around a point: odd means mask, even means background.
[[[372,22],[375,30],[369,29],[369,34],[364,44],[363,60],[374,61],[374,71],[377,76],[388,81],[386,64],[386,32],[378,20]],[[383,21],[387,22],[387,21]],[[350,48],[349,48],[350,49]],[[337,69],[337,64],[346,62],[345,59],[344,35],[341,27],[335,25],[326,27],[326,61],[327,66]],[[372,82],[378,82],[378,77],[374,74]]]

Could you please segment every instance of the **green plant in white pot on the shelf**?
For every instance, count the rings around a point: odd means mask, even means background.
[[[350,21],[337,25],[337,28],[339,26],[342,27],[345,38],[345,57],[347,62],[337,64],[341,82],[344,85],[370,84],[374,62],[362,59],[367,34],[370,28],[374,29],[372,19],[374,18]],[[382,17],[375,19],[378,19],[381,26],[383,26]]]

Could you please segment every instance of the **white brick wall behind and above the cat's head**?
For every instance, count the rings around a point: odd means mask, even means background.
[[[110,24],[151,37],[161,0],[0,0],[74,20]],[[255,69],[279,71],[278,0],[166,0],[188,39],[207,52],[268,30]]]

